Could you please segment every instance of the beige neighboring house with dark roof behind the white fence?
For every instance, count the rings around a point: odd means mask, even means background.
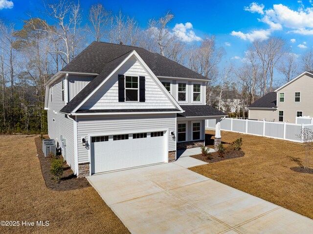
[[[313,117],[313,73],[303,72],[248,106],[251,120],[296,123],[296,117]]]

